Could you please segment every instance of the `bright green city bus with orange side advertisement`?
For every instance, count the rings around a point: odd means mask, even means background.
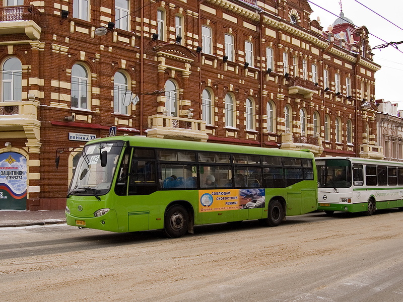
[[[285,216],[317,209],[313,154],[116,136],[88,142],[70,184],[69,225],[112,232],[162,229],[168,237],[199,224]]]

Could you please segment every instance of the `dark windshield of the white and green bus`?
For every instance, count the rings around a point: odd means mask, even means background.
[[[319,188],[351,187],[351,163],[348,160],[317,160]]]

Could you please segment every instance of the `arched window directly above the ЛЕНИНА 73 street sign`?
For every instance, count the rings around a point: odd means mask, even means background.
[[[81,64],[72,68],[72,108],[88,109],[89,79],[87,69]]]

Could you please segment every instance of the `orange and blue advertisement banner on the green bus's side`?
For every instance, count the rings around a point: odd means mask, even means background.
[[[199,212],[265,207],[264,189],[199,190]]]

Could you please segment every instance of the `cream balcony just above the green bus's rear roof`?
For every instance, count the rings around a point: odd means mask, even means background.
[[[322,138],[320,136],[297,134],[286,132],[281,134],[280,149],[306,150],[312,152],[315,157],[323,153]]]

